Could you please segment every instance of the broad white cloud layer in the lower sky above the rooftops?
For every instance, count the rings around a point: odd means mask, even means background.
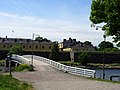
[[[0,36],[31,38],[32,33],[59,40],[69,37],[79,41],[89,40],[97,45],[102,39],[103,32],[92,30],[89,23],[73,23],[61,20],[47,20],[33,16],[19,16],[0,12]],[[14,31],[14,34],[12,33]]]

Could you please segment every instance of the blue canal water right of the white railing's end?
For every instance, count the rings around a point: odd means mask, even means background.
[[[96,71],[95,77],[102,79],[103,70],[102,69],[95,69],[95,71]],[[114,76],[114,75],[120,76],[120,69],[105,69],[105,79],[106,80],[110,80],[110,76]],[[120,82],[120,77],[114,77],[112,80]]]

